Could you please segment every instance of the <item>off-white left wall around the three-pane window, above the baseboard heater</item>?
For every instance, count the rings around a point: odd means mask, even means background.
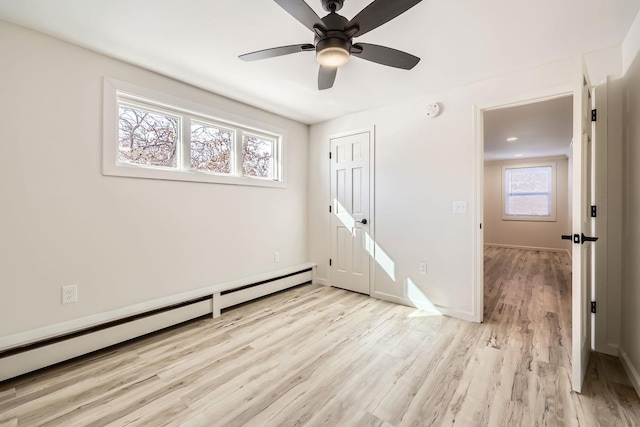
[[[0,338],[308,261],[308,126],[2,22],[0,52]],[[284,129],[287,188],[103,176],[105,76]]]

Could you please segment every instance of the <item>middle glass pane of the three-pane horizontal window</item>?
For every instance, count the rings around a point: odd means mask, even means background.
[[[234,131],[212,125],[191,124],[191,169],[231,173]]]

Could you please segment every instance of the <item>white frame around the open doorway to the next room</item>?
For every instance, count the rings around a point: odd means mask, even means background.
[[[515,95],[512,97],[473,105],[473,129],[476,146],[476,186],[475,214],[476,227],[473,263],[475,278],[473,284],[473,320],[482,323],[484,320],[484,112],[498,108],[517,107],[541,101],[561,98],[574,94],[571,84],[544,89],[536,92]],[[560,236],[558,236],[560,238]]]

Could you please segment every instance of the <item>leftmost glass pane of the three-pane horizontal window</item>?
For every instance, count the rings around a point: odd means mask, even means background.
[[[177,167],[177,118],[120,105],[119,128],[121,162]]]

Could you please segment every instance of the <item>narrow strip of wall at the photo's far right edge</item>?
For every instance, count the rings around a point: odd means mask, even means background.
[[[640,16],[640,15],[639,15]],[[636,19],[638,23],[638,19]],[[640,31],[630,32],[629,45],[640,46]],[[620,352],[640,393],[640,55],[627,58],[624,110],[624,222],[622,336]]]

